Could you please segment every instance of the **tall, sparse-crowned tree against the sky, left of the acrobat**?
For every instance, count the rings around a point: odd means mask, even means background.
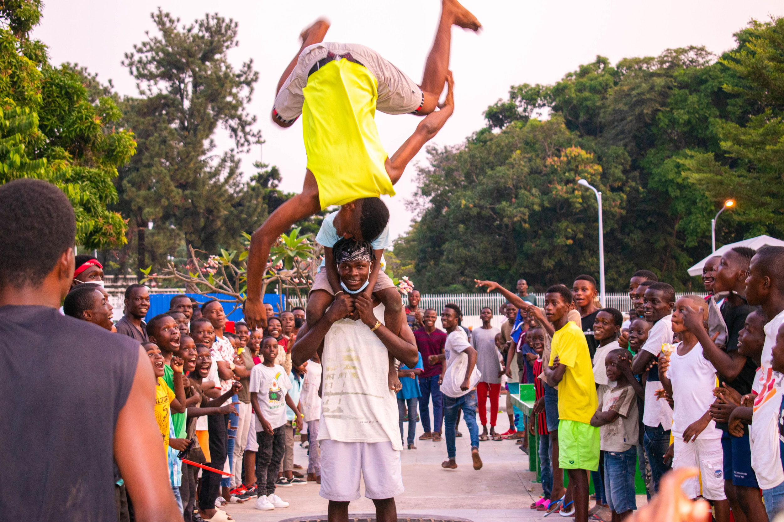
[[[183,240],[211,252],[236,249],[240,232],[267,216],[263,191],[242,180],[237,157],[261,142],[246,109],[259,74],[252,60],[236,69],[227,56],[238,45],[237,23],[208,14],[180,25],[161,10],[151,17],[158,34],[125,55],[141,95],[123,103],[139,153],[117,182],[139,268],[165,265]],[[219,128],[234,142],[220,154]]]

